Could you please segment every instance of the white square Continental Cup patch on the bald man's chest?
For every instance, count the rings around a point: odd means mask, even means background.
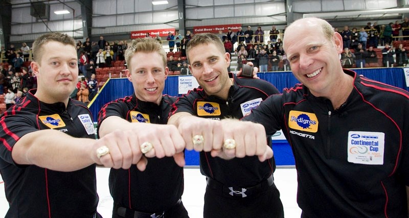
[[[385,134],[350,131],[348,133],[348,162],[382,165]]]

